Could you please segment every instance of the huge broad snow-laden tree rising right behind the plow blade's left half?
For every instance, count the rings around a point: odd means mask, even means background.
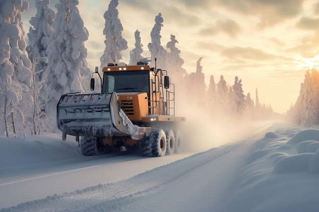
[[[54,31],[47,47],[48,103],[46,113],[50,120],[56,120],[56,105],[61,95],[83,92],[81,76],[90,72],[87,67],[85,41],[89,33],[77,9],[77,0],[60,0],[56,5]]]

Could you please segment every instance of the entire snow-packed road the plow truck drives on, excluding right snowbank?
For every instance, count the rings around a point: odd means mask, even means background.
[[[255,127],[254,136],[268,126]],[[0,211],[215,211],[255,140],[161,158],[83,157],[76,150],[50,160],[50,147],[43,163],[0,170]]]

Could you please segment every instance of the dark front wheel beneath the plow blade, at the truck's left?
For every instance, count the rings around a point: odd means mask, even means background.
[[[91,136],[81,137],[81,151],[85,156],[97,156],[109,152],[109,150],[104,147],[100,138]]]

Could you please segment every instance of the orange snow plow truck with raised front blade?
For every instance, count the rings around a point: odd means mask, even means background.
[[[66,94],[57,105],[57,125],[75,136],[83,155],[95,156],[139,149],[142,156],[161,157],[181,147],[179,126],[185,117],[175,116],[175,85],[166,70],[148,65],[118,66],[109,63],[92,73],[100,80],[99,94]],[[81,137],[81,139],[80,139]]]

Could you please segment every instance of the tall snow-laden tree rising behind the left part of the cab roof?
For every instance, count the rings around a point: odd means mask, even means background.
[[[127,41],[122,37],[123,26],[116,9],[118,4],[119,0],[111,0],[103,16],[105,19],[103,29],[105,49],[100,58],[101,68],[112,62],[118,64],[122,59],[121,51],[128,48]]]

